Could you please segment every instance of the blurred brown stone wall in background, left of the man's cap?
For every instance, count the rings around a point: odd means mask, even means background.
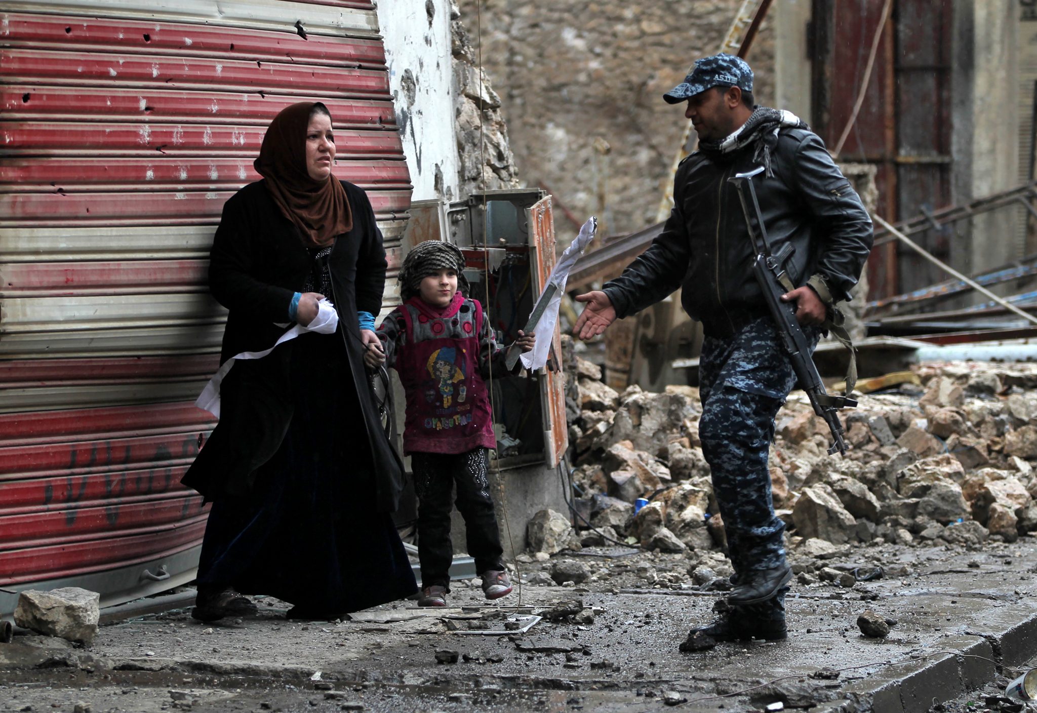
[[[682,108],[662,95],[695,58],[718,51],[740,4],[481,0],[478,12],[476,0],[460,0],[476,49],[481,34],[524,183],[548,187],[578,220],[596,213],[602,234],[653,224],[685,125]],[[749,56],[761,104],[775,96],[773,46],[766,21]],[[574,235],[556,216],[560,237]]]

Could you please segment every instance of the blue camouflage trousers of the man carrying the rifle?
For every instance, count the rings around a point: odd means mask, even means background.
[[[816,346],[819,332],[807,327],[805,333]],[[785,564],[785,523],[775,515],[767,454],[775,417],[794,383],[795,373],[769,316],[747,323],[730,338],[706,337],[702,343],[699,438],[738,576]],[[783,617],[786,591],[746,608]]]

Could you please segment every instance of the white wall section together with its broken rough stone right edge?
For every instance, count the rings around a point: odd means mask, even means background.
[[[516,188],[501,101],[487,73],[480,81],[477,53],[456,5],[383,2],[379,24],[414,200]]]

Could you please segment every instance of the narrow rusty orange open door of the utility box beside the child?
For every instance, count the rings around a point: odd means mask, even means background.
[[[536,292],[543,286],[555,267],[555,221],[551,196],[545,196],[526,211],[529,222],[530,247],[533,249],[536,269]],[[565,374],[559,362],[562,353],[561,337],[555,327],[552,337],[552,354],[556,370],[543,369],[540,376],[540,394],[543,412],[543,454],[548,465],[555,467],[568,448],[568,425],[565,421]]]

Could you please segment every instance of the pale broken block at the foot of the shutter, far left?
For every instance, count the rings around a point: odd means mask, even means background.
[[[101,621],[101,595],[78,587],[18,595],[15,623],[47,636],[90,644]]]

